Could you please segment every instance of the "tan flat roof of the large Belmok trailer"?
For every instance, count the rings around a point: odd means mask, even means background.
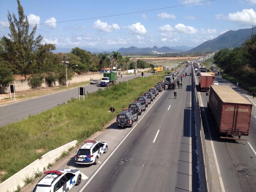
[[[252,105],[252,103],[248,102],[243,96],[241,96],[229,86],[211,85],[210,91],[211,89],[213,89],[217,93],[221,101],[224,103],[240,103]]]

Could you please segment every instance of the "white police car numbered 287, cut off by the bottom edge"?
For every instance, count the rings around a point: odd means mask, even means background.
[[[44,174],[32,192],[68,192],[74,185],[81,183],[78,169],[50,170]]]

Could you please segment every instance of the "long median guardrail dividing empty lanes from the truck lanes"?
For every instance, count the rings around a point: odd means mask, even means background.
[[[194,73],[193,73],[193,65],[191,66],[192,68],[192,71],[191,73],[193,74],[193,84],[194,84],[194,93],[195,93],[195,103],[196,103],[196,106],[195,106],[195,113],[196,113],[196,122],[199,124],[196,124],[197,125],[197,130],[199,128],[200,131],[197,131],[197,138],[201,138],[201,139],[198,139],[198,144],[200,145],[201,144],[201,147],[202,147],[202,155],[199,156],[201,162],[203,161],[204,162],[204,171],[205,171],[205,179],[206,179],[206,185],[207,185],[207,191],[208,192],[212,192],[213,189],[212,189],[212,173],[211,173],[211,168],[209,166],[209,156],[208,156],[208,151],[207,151],[207,148],[206,148],[206,143],[205,143],[205,133],[204,133],[204,128],[203,128],[203,125],[202,125],[202,118],[201,118],[201,110],[200,110],[200,105],[199,105],[199,98],[198,98],[198,94],[197,94],[197,90],[196,90],[196,84],[195,84],[195,76],[194,76]],[[202,179],[201,179],[202,180]],[[202,189],[202,191],[206,191]]]

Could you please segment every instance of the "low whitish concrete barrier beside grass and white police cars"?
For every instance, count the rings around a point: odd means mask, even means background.
[[[18,185],[20,185],[20,187],[23,187],[25,185],[23,180],[26,177],[34,176],[34,172],[37,171],[43,172],[44,168],[47,167],[49,163],[53,163],[63,151],[67,151],[69,148],[75,147],[76,143],[77,140],[72,141],[44,154],[40,159],[35,160],[28,166],[21,169],[19,172],[15,173],[13,176],[3,181],[3,183],[0,183],[0,191],[11,192],[16,190]]]

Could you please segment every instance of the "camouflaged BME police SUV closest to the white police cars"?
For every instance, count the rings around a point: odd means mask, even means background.
[[[138,114],[131,109],[125,109],[116,116],[116,124],[120,127],[132,127],[134,121],[138,120]]]

